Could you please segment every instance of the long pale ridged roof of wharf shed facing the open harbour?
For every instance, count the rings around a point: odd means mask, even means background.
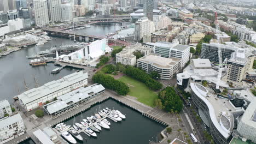
[[[41,87],[30,89],[18,95],[18,98],[25,105],[30,103],[31,101],[43,98],[45,95],[59,91],[62,88],[73,85],[74,83],[77,83],[85,79],[88,79],[87,73],[83,73],[83,71],[75,72],[73,74],[62,77],[60,80],[51,81],[45,83]]]

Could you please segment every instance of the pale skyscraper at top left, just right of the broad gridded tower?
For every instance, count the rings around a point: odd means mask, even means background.
[[[61,0],[50,0],[49,1],[50,20],[61,21]]]

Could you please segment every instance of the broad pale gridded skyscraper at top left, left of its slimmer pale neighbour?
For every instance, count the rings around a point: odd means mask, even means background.
[[[33,0],[34,19],[37,26],[49,25],[49,14],[46,0]]]

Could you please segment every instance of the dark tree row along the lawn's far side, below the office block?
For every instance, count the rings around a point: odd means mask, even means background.
[[[159,89],[162,88],[162,83],[152,79],[150,75],[148,75],[145,71],[139,68],[128,66],[125,69],[124,73],[132,77],[133,79],[136,79],[138,81],[145,83],[149,89],[152,89],[154,91],[158,91]]]

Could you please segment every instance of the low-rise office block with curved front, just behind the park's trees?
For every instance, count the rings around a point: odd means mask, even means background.
[[[138,59],[137,67],[145,70],[148,74],[157,71],[160,74],[160,79],[170,80],[181,69],[181,63],[182,59],[180,58],[165,58],[150,53]]]

